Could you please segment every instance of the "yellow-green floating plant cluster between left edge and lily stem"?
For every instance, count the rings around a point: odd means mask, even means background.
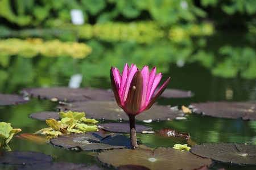
[[[46,120],[46,124],[50,126],[50,128],[44,128],[37,131],[35,134],[41,133],[47,135],[48,138],[57,137],[59,134],[70,134],[70,133],[84,133],[86,131],[97,131],[97,125],[86,125],[87,124],[95,124],[96,121],[94,118],[86,118],[84,112],[71,112],[68,111],[60,112],[60,116],[62,117],[60,121],[56,121],[53,118],[49,118]]]

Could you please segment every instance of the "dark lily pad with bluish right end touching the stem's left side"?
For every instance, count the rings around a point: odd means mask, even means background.
[[[101,133],[59,135],[50,139],[53,146],[66,149],[107,150],[112,148],[130,148],[130,138],[123,135],[104,135]]]

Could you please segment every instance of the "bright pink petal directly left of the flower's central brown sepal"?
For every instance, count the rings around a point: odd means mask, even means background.
[[[131,68],[129,69],[129,73],[126,79],[126,83],[125,86],[123,88],[123,92],[122,92],[122,103],[126,101],[127,98],[127,94],[130,88],[130,84],[131,84],[131,80],[133,79],[134,74],[138,71],[136,65],[131,64]]]

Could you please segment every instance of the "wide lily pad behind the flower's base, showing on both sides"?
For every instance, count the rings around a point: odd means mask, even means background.
[[[61,105],[59,109],[71,110],[73,112],[85,112],[86,117],[96,119],[105,118],[108,120],[129,120],[129,117],[115,101],[77,101],[71,105]],[[171,109],[170,106],[152,105],[150,109],[138,114],[137,120],[172,120],[175,119],[182,111]]]

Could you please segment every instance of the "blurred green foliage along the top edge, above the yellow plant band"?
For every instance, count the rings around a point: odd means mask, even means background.
[[[0,0],[0,21],[11,27],[48,27],[71,21],[80,9],[89,24],[155,20],[163,27],[206,18],[226,24],[255,18],[255,0]]]

